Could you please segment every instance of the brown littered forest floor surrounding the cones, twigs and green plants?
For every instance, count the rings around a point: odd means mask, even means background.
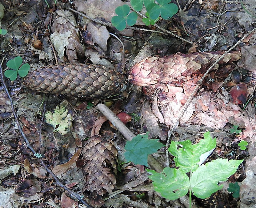
[[[171,138],[175,141],[190,139],[194,144],[198,143],[204,132],[210,131],[211,136],[217,138],[217,147],[206,162],[216,158],[244,159],[237,172],[227,182],[222,182],[223,189],[205,200],[193,197],[194,207],[256,206],[256,33],[250,33],[256,25],[255,0],[172,0],[179,6],[178,13],[172,19],[162,19],[156,24],[188,42],[166,32],[158,33],[160,30],[156,26],[145,26],[141,21],[134,26],[137,29],[118,31],[65,9],[69,7],[85,13],[91,19],[110,22],[116,7],[130,5],[130,1],[73,0],[70,4],[67,0],[57,0],[56,5],[54,0],[48,0],[49,7],[44,0],[0,2],[4,7],[0,6],[0,16],[4,14],[1,28],[7,30],[7,34],[1,35],[0,41],[4,71],[10,59],[21,56],[23,63],[29,63],[30,70],[56,63],[93,63],[115,68],[128,77],[129,67],[147,56],[227,51],[248,35],[233,49],[241,53],[240,60],[212,70],[205,78]],[[73,29],[65,25],[67,22],[71,23]],[[61,32],[60,28],[65,26],[70,33]],[[120,41],[109,33],[120,38],[124,53]],[[115,114],[123,112],[122,121],[133,134],[150,132],[150,139],[159,139],[165,145],[174,121],[188,99],[189,93],[184,93],[183,89],[191,93],[189,88],[196,84],[192,79],[183,83],[181,90],[180,87],[165,86],[166,89],[157,91],[150,87],[129,85],[119,100],[70,99],[31,91],[24,87],[20,77],[14,81],[4,79],[30,145],[42,155],[41,161],[59,181],[83,196],[88,204],[115,208],[187,206],[186,199],[170,201],[161,197],[154,191],[148,172],[141,166],[125,161],[126,139],[108,123],[96,106],[105,103],[111,106]],[[245,86],[243,92],[232,94],[231,89],[237,85]],[[16,123],[2,82],[0,90],[0,207],[86,207],[81,200],[60,187],[30,151]],[[164,97],[166,94],[167,98]],[[53,112],[59,106],[67,109],[72,117],[71,131],[65,135],[53,133],[52,126],[44,118],[45,111]],[[234,126],[238,126],[241,132],[232,133]],[[80,152],[82,156],[85,153],[84,144],[88,138],[99,134],[112,141],[111,145],[118,151],[119,164],[114,189],[102,198],[97,194],[92,196],[84,188],[86,172],[79,165],[82,159]],[[248,142],[245,150],[238,146],[241,140]],[[162,166],[169,165],[164,147],[153,156]],[[94,162],[96,168],[97,158]],[[170,167],[173,167],[172,160]],[[234,182],[240,185],[238,198],[232,197],[227,191],[228,184]]]

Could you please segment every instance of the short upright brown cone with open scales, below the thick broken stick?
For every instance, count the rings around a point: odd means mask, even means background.
[[[117,150],[113,143],[100,136],[93,136],[86,141],[81,159],[84,160],[85,173],[83,192],[90,191],[93,198],[95,193],[100,196],[111,193],[115,188],[117,172]]]

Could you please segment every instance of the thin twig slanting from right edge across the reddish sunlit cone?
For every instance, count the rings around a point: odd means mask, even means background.
[[[196,94],[197,90],[199,89],[199,87],[202,85],[204,78],[207,76],[207,74],[209,73],[209,71],[212,70],[212,68],[215,66],[215,64],[219,63],[219,61],[227,55],[227,53],[229,53],[232,49],[234,49],[240,42],[242,42],[245,38],[247,38],[252,32],[254,32],[256,30],[256,27],[254,29],[252,29],[249,33],[247,33],[246,35],[244,35],[243,38],[241,38],[239,41],[237,41],[236,44],[234,44],[231,48],[229,48],[222,56],[220,56],[220,58],[215,61],[214,63],[212,63],[211,67],[204,73],[203,77],[197,82],[196,88],[193,90],[193,92],[190,94],[188,100],[186,101],[185,105],[183,106],[183,108],[181,109],[181,111],[179,112],[179,115],[176,119],[176,121],[172,124],[172,129],[169,130],[168,132],[168,140],[166,143],[166,157],[167,157],[167,164],[170,164],[170,159],[169,159],[169,155],[168,155],[168,147],[171,143],[171,136],[173,133],[173,130],[179,125],[180,119],[183,116],[184,112],[186,111],[186,109],[188,108],[188,105],[190,104],[191,100],[194,98],[194,95]]]

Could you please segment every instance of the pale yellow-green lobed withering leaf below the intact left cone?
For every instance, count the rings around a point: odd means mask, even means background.
[[[68,114],[68,109],[63,105],[56,106],[54,112],[45,113],[45,122],[53,126],[53,132],[59,132],[64,135],[72,126],[72,116]]]

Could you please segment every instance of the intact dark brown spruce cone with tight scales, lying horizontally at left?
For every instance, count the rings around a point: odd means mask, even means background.
[[[28,73],[24,85],[43,93],[87,98],[108,98],[125,87],[119,72],[83,63],[41,67]]]

